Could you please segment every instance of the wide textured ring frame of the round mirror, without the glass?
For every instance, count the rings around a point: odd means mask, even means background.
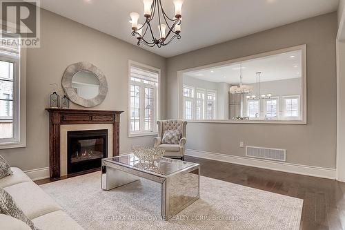
[[[83,97],[80,97],[73,89],[72,78],[81,70],[88,70],[92,72],[99,80],[99,94],[96,97],[85,99]],[[81,61],[68,66],[65,70],[65,73],[63,73],[61,85],[71,102],[79,104],[80,106],[86,108],[95,107],[101,104],[108,93],[108,83],[106,80],[106,76],[99,68],[97,68],[97,66],[94,66],[86,61]]]

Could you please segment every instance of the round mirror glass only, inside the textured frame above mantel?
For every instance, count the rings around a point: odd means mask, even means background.
[[[91,99],[99,95],[99,80],[89,70],[80,70],[72,77],[72,88],[79,97]]]

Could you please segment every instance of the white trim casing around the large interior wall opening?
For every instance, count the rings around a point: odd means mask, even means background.
[[[306,68],[306,44],[293,46],[289,48],[282,48],[279,50],[273,50],[270,52],[263,52],[257,55],[250,55],[248,57],[240,57],[237,59],[231,59],[228,61],[221,61],[214,64],[208,64],[205,66],[198,66],[195,68],[188,68],[184,70],[177,71],[177,93],[178,93],[178,100],[177,100],[177,108],[178,108],[178,116],[179,119],[184,117],[183,115],[183,75],[186,72],[197,71],[197,70],[204,70],[209,68],[215,68],[220,66],[227,66],[229,64],[234,64],[242,61],[247,61],[250,59],[257,59],[259,57],[266,57],[270,55],[277,55],[284,52],[290,52],[295,50],[302,50],[302,100],[300,103],[302,104],[302,119],[301,120],[228,120],[228,119],[219,119],[219,120],[188,120],[188,122],[192,123],[230,123],[230,124],[307,124],[307,88],[306,88],[306,81],[307,81],[307,68]]]

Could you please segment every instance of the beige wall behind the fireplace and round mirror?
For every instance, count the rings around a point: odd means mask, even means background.
[[[68,65],[89,61],[106,75],[109,92],[105,101],[93,108],[125,111],[121,115],[120,152],[132,144],[152,144],[152,137],[128,138],[128,59],[162,70],[162,92],[165,101],[166,59],[110,37],[69,19],[41,11],[41,48],[28,49],[27,55],[27,147],[0,150],[12,166],[23,170],[48,167],[48,96],[49,84],[61,85]],[[62,90],[59,91],[62,95]],[[163,105],[165,105],[163,103]],[[72,104],[71,108],[81,108]],[[166,109],[161,109],[162,117]]]

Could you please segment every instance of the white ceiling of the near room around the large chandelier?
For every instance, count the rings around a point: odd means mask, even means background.
[[[172,0],[163,0],[168,15]],[[337,10],[339,0],[184,0],[181,40],[163,48],[147,48],[172,57],[223,41],[244,37]],[[131,44],[130,12],[144,11],[142,0],[41,0],[50,10]],[[140,19],[139,19],[140,21]],[[144,16],[141,17],[144,21]]]

